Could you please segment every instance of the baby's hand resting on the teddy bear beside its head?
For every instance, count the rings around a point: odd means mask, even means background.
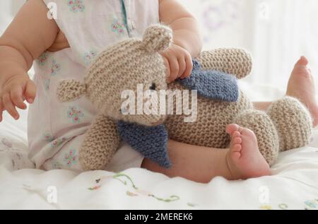
[[[191,75],[193,64],[191,54],[178,45],[171,45],[161,54],[167,66],[167,81],[171,83],[177,78],[187,78]]]

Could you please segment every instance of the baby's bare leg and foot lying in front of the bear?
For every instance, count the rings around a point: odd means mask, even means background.
[[[227,128],[232,140],[230,148],[206,148],[169,141],[168,153],[172,167],[165,169],[151,160],[142,167],[169,177],[184,177],[195,182],[210,182],[213,177],[247,179],[269,175],[269,165],[259,153],[256,136],[249,129],[235,124]]]

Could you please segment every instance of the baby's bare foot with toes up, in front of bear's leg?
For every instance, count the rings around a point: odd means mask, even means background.
[[[237,124],[228,125],[226,131],[231,136],[227,162],[232,177],[248,179],[270,175],[269,164],[259,152],[254,132]]]

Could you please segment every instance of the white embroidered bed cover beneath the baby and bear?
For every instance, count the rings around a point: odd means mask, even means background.
[[[283,95],[269,87],[241,86],[253,100]],[[26,114],[19,122],[6,116],[0,124],[0,209],[318,209],[318,133],[312,147],[281,153],[271,177],[235,182],[216,177],[198,184],[142,169],[117,175],[32,170],[25,131]],[[57,203],[49,203],[55,192]]]

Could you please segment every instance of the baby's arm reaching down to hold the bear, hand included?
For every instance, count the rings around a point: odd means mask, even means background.
[[[177,0],[159,0],[160,21],[173,30],[173,45],[163,52],[169,81],[189,77],[192,57],[201,52],[202,38],[194,16]]]

